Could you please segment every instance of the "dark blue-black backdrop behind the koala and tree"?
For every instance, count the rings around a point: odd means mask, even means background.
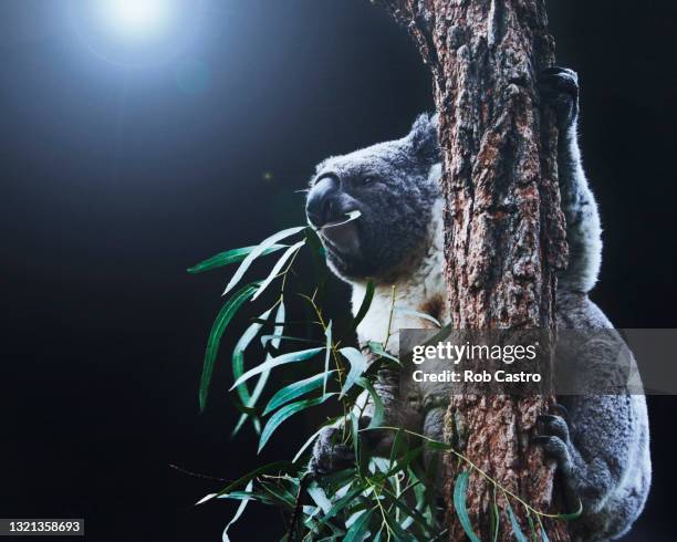
[[[677,326],[673,3],[550,6],[605,226],[593,298],[618,327]],[[302,223],[312,166],[403,135],[429,80],[366,0],[212,0],[180,50],[133,67],[96,54],[69,6],[0,6],[0,515],[84,517],[93,541],[220,540],[235,504],[194,509],[218,484],[168,465],[233,479],[259,459],[251,428],[229,438],[225,368],[197,413],[227,273],[185,268]],[[649,399],[654,484],[626,540],[673,539],[676,406]],[[290,423],[261,461],[310,429]],[[252,504],[232,536],[281,529]]]

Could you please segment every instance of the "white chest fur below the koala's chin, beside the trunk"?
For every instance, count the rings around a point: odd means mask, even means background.
[[[387,350],[397,354],[398,330],[435,327],[428,320],[406,311],[428,314],[442,325],[449,321],[447,290],[444,279],[442,200],[433,208],[429,246],[415,269],[393,281],[377,283],[366,317],[357,326],[361,344],[387,342]],[[366,282],[352,282],[353,314],[356,314],[366,293]],[[406,310],[406,311],[402,311]],[[388,332],[390,336],[388,338]]]

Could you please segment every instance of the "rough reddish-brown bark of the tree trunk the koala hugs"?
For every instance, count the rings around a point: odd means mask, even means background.
[[[566,243],[558,134],[552,114],[539,111],[535,86],[539,71],[554,60],[544,0],[375,1],[408,29],[434,79],[455,327],[552,333],[555,271],[565,264]],[[551,400],[455,396],[446,437],[460,419],[464,451],[478,467],[535,509],[553,511],[554,467],[530,442]],[[455,468],[447,460],[449,511]],[[481,540],[491,540],[491,499],[488,483],[472,476],[468,509]],[[529,532],[523,508],[512,504]],[[448,522],[451,540],[465,540],[452,513]],[[512,540],[504,512],[501,524],[499,540]],[[550,540],[569,540],[563,522],[546,522],[546,531]]]

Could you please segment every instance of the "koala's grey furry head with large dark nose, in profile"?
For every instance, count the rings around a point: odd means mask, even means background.
[[[439,197],[437,177],[430,174],[438,161],[436,117],[421,115],[402,139],[334,156],[316,167],[305,210],[336,274],[346,280],[389,277],[421,256]],[[341,223],[355,210],[360,218]]]

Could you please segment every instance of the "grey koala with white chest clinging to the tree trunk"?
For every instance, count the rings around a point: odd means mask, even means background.
[[[570,249],[567,269],[558,277],[558,326],[610,330],[605,338],[595,335],[581,350],[580,363],[595,367],[613,359],[610,356],[624,343],[589,298],[601,267],[602,229],[577,144],[577,75],[549,69],[539,77],[539,88],[543,105],[552,106],[558,118],[560,190]],[[320,231],[331,270],[351,284],[355,313],[367,280],[376,286],[372,306],[357,327],[362,345],[377,341],[397,352],[397,334],[388,333],[393,303],[409,310],[393,313],[395,332],[433,325],[412,311],[442,323],[450,320],[440,175],[437,119],[426,114],[400,139],[334,156],[316,167],[306,199],[308,219]],[[360,218],[346,222],[345,215],[355,210]],[[444,386],[416,384],[382,369],[375,387],[385,405],[384,425],[441,439],[448,404]],[[571,524],[572,535],[584,541],[616,539],[629,530],[648,494],[652,466],[645,397],[628,390],[560,400],[556,414],[542,417],[535,438],[556,460],[567,490],[583,503],[582,518]],[[361,408],[361,424],[366,424],[369,405]],[[337,432],[326,428],[316,440],[310,462],[315,473],[354,461],[353,451],[336,442]],[[375,455],[389,452],[392,431],[365,435]]]

